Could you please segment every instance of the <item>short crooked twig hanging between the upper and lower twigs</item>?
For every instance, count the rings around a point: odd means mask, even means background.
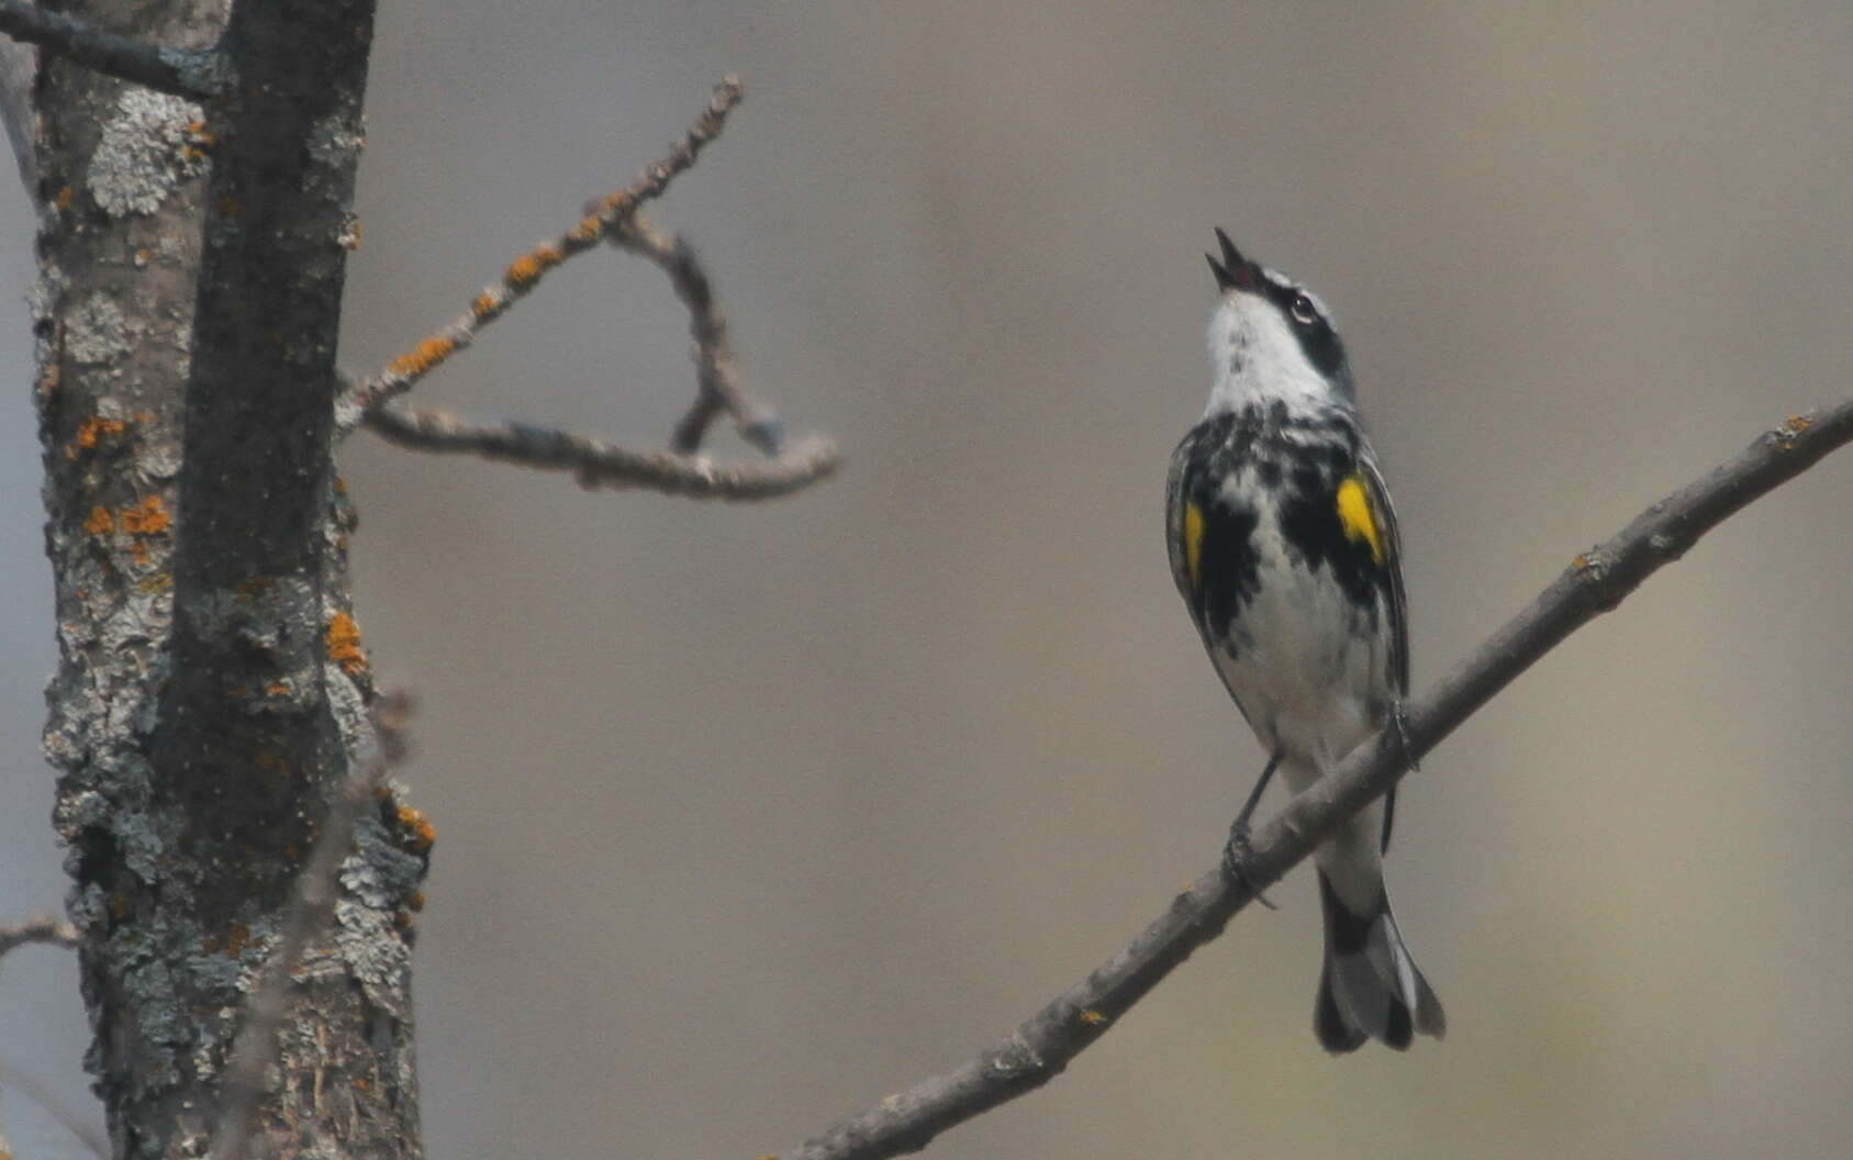
[[[700,389],[687,415],[676,424],[669,447],[693,456],[708,435],[708,424],[725,411],[734,417],[734,426],[747,443],[776,456],[784,441],[782,424],[773,408],[739,385],[739,365],[734,361],[734,347],[726,341],[726,315],[713,298],[713,284],[695,248],[680,233],[658,230],[643,213],[634,213],[630,222],[613,230],[611,245],[656,263],[689,311],[689,337],[695,339],[695,376]]]

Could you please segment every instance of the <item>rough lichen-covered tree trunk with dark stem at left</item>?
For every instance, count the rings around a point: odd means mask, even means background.
[[[221,43],[239,78],[200,107],[41,54],[33,89],[46,752],[87,1065],[119,1156],[198,1156],[371,697],[330,430],[372,2],[61,7]],[[430,832],[378,804],[295,973],[259,1154],[419,1154],[408,906]]]

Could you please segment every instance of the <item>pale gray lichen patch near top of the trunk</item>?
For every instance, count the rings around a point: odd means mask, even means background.
[[[196,176],[206,158],[187,139],[204,117],[191,100],[124,89],[115,115],[104,122],[85,176],[102,211],[109,217],[154,213],[180,182]]]

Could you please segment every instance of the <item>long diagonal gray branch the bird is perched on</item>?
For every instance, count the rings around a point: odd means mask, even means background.
[[[1340,823],[1390,789],[1408,762],[1434,749],[1571,632],[1616,608],[1647,576],[1679,560],[1699,536],[1849,441],[1853,398],[1794,415],[1638,515],[1607,543],[1577,556],[1529,608],[1406,706],[1406,750],[1386,736],[1395,730],[1384,730],[1254,832],[1247,864],[1253,888],[1230,884],[1219,869],[1206,873],[1177,895],[1132,945],[977,1058],[830,1127],[789,1153],[788,1160],[871,1160],[914,1153],[945,1128],[1047,1084],[1191,951],[1221,934],[1229,919],[1253,901],[1254,889],[1277,882]]]

